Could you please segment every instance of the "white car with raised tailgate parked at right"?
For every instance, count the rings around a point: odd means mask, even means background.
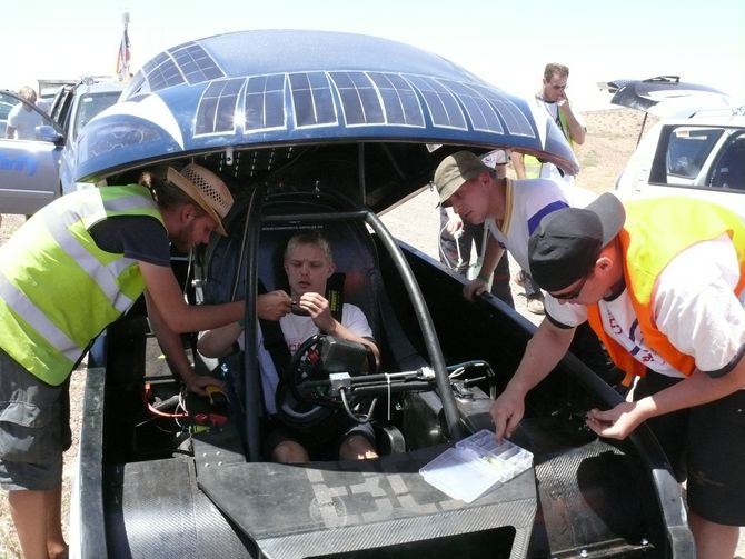
[[[659,117],[616,181],[619,196],[693,196],[745,217],[742,103],[675,77],[622,82],[612,102]]]

